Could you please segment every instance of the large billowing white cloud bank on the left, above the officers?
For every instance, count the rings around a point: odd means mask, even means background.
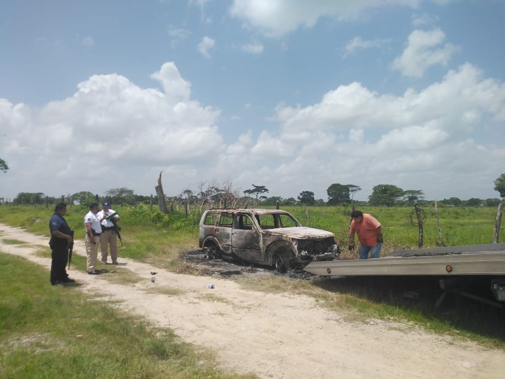
[[[9,186],[20,192],[35,186],[34,192],[49,196],[77,188],[103,194],[119,180],[149,193],[154,186],[146,183],[160,170],[209,164],[208,152],[224,149],[215,125],[220,111],[189,99],[189,83],[173,63],[152,77],[166,91],[140,88],[109,74],[91,76],[73,96],[40,109],[0,99],[6,135],[0,150],[10,167]],[[167,187],[178,186],[175,180]],[[4,185],[0,191],[6,191]]]

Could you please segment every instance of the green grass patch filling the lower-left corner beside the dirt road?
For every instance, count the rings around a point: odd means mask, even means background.
[[[0,253],[0,270],[2,378],[255,377],[224,373],[168,328],[51,286],[49,273],[23,258]]]

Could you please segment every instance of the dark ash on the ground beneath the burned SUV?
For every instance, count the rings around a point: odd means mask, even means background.
[[[206,276],[221,275],[237,277],[247,275],[248,277],[265,277],[281,275],[275,269],[238,260],[209,259],[207,254],[200,249],[182,253],[180,259],[186,260],[189,265],[198,269],[202,275]],[[300,279],[308,279],[314,276],[304,270],[293,270],[284,275]]]

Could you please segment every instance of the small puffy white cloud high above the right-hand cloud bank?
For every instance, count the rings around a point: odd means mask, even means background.
[[[444,39],[445,34],[440,29],[414,30],[409,35],[407,48],[394,59],[392,68],[401,71],[403,76],[422,77],[430,66],[447,66],[459,48],[451,43],[437,48]]]

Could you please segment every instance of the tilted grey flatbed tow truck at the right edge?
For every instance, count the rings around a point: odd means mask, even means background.
[[[396,250],[382,258],[311,262],[304,270],[320,276],[431,276],[442,294],[456,293],[503,310],[505,305],[505,243]],[[496,301],[472,294],[471,280],[485,282]],[[489,294],[490,295],[490,294]]]

